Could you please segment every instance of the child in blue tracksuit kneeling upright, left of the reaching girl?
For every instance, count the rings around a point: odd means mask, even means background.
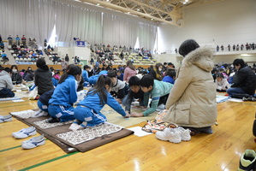
[[[76,89],[80,80],[81,68],[69,65],[49,101],[48,112],[52,117],[49,123],[74,120],[73,103],[77,100]]]

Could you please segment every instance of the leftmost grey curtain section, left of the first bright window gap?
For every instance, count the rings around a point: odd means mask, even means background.
[[[22,35],[36,38],[43,44],[50,38],[55,24],[55,3],[49,0],[1,0],[0,1],[0,32],[3,39],[9,35],[15,38]]]

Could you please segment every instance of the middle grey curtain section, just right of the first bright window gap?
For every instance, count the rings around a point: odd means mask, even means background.
[[[69,42],[80,38],[87,42],[101,42],[101,13],[73,5],[57,4],[58,41]]]

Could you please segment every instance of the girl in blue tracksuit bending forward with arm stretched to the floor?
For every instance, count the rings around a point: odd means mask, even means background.
[[[120,115],[129,117],[129,114],[126,114],[121,105],[110,95],[110,87],[112,85],[112,80],[109,77],[105,75],[98,77],[97,84],[88,91],[86,98],[78,103],[74,109],[76,120],[69,129],[76,130],[80,126],[93,127],[104,123],[106,116],[100,113],[100,110],[104,108],[104,104],[108,104]]]

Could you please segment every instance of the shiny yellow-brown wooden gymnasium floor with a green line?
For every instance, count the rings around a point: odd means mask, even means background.
[[[0,115],[36,108],[37,101],[4,101],[0,102]],[[71,154],[50,140],[33,150],[22,150],[24,139],[14,139],[11,133],[27,125],[13,118],[0,124],[0,170],[236,170],[244,150],[255,150],[252,128],[256,102],[218,103],[217,110],[214,133],[193,136],[188,142],[172,144],[156,139],[154,134],[130,135],[85,153]]]

